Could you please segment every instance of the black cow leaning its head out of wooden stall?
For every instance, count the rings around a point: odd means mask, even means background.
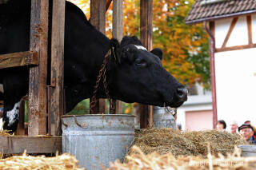
[[[66,2],[64,85],[66,112],[83,99],[92,97],[98,71],[107,51],[114,55],[107,65],[110,97],[146,105],[178,107],[187,90],[161,65],[161,49],[147,51],[136,37],[124,37],[119,44],[90,25],[77,6]],[[29,50],[30,0],[10,0],[0,5],[0,54]],[[4,128],[18,124],[21,98],[28,92],[28,68],[0,69],[4,89]],[[103,85],[98,97],[106,97]]]

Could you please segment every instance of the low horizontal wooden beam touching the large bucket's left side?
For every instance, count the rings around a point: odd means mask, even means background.
[[[43,0],[45,1],[45,0]],[[3,154],[62,152],[62,137],[49,136],[0,136]]]

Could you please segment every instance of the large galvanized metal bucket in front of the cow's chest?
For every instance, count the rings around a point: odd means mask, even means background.
[[[134,142],[134,116],[122,114],[62,116],[62,152],[90,169],[122,160]]]

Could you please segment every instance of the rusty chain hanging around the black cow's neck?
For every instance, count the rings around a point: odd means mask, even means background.
[[[102,66],[101,66],[101,69],[99,70],[99,73],[98,73],[98,78],[97,78],[97,81],[96,81],[96,85],[94,86],[94,96],[92,97],[91,101],[90,101],[90,113],[93,113],[93,108],[96,106],[97,104],[97,99],[96,99],[96,94],[97,94],[97,91],[98,91],[98,85],[100,83],[100,81],[102,80],[102,77],[103,77],[103,85],[104,85],[104,89],[105,89],[105,93],[106,93],[106,97],[109,99],[110,101],[110,114],[114,114],[114,109],[115,109],[115,100],[114,99],[111,99],[110,97],[110,92],[109,90],[107,89],[107,84],[106,84],[106,64],[108,63],[108,61],[110,60],[110,57],[111,57],[111,53],[114,54],[114,47],[112,47],[112,49],[110,49],[105,57],[104,57],[104,60],[102,62]],[[115,55],[114,55],[115,57]],[[116,59],[116,57],[115,57]]]

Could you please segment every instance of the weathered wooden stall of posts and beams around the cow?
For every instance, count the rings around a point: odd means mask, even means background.
[[[112,0],[90,2],[90,22],[102,33],[105,33],[105,13],[111,2]],[[152,48],[152,3],[152,0],[141,1],[141,40],[147,49]],[[119,41],[122,39],[122,4],[122,1],[113,1],[113,37]],[[65,0],[53,1],[51,49],[48,49],[48,15],[49,1],[31,0],[30,51],[0,55],[0,69],[24,65],[30,67],[28,136],[0,136],[0,150],[4,154],[22,153],[25,149],[27,153],[62,152],[60,117],[65,112],[63,90]],[[48,50],[51,52],[51,63],[47,63]],[[50,73],[47,73],[47,65],[51,65]],[[50,85],[46,84],[47,75],[50,75]],[[99,100],[94,113],[105,112],[104,102],[103,99]],[[146,128],[149,116],[152,122],[152,109],[146,105],[142,105],[141,108],[142,128]],[[117,102],[115,113],[122,113],[121,101]],[[21,119],[24,119],[23,116],[21,113]],[[22,121],[19,127],[18,134],[24,135]]]

